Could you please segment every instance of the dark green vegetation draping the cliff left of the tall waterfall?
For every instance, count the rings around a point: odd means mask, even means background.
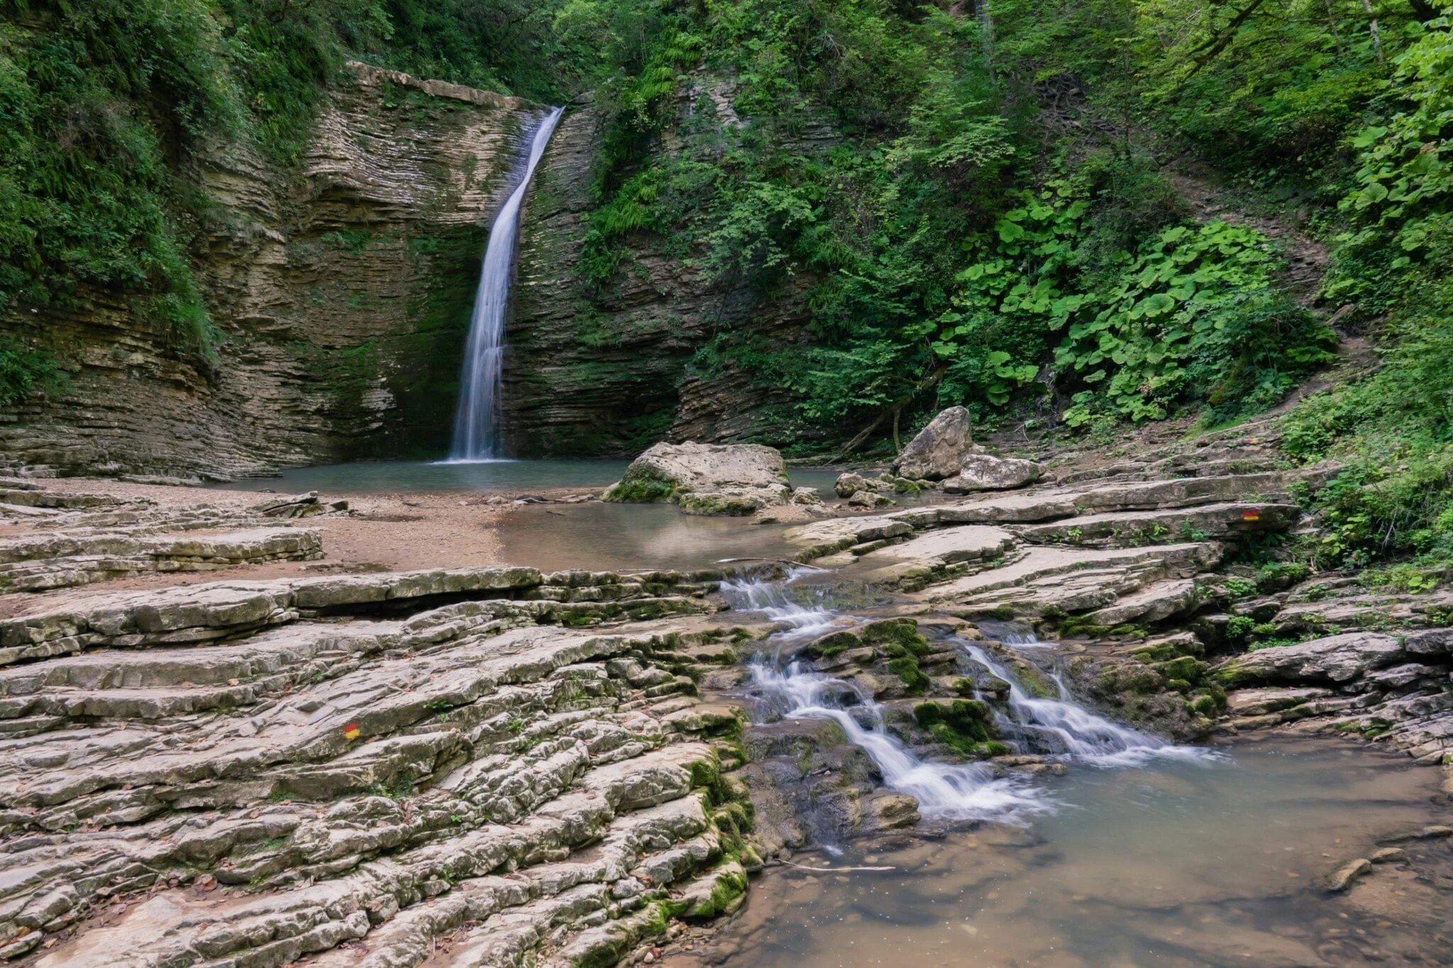
[[[567,29],[574,6],[0,0],[0,313],[122,293],[138,324],[209,366],[216,329],[187,255],[208,202],[182,174],[190,155],[241,139],[291,164],[350,57],[558,99],[602,58]],[[7,399],[45,383],[35,354],[64,353],[26,337],[3,350]]]

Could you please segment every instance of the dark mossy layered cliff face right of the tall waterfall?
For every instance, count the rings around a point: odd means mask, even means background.
[[[699,80],[681,97],[677,128],[734,125],[729,96]],[[764,341],[806,332],[806,282],[770,295],[713,286],[648,232],[626,239],[628,258],[606,286],[580,271],[584,215],[603,128],[593,107],[561,122],[535,174],[520,231],[519,276],[504,361],[504,427],[511,453],[636,454],[661,440],[760,440],[763,418],[785,405],[782,390],[754,386],[725,367],[693,366],[728,324]],[[814,128],[809,141],[828,141]],[[658,151],[680,149],[671,132]],[[780,443],[780,441],[767,441]]]

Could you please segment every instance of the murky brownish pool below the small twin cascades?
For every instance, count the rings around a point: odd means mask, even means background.
[[[1436,819],[1437,771],[1407,763],[1280,739],[1212,763],[1072,769],[1051,784],[1061,808],[1026,830],[798,858],[886,872],[774,868],[705,956],[668,964],[1447,964],[1449,901],[1427,878],[1379,866],[1350,897],[1321,888],[1377,837]]]

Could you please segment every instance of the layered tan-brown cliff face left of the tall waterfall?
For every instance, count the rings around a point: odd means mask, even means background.
[[[195,164],[211,372],[124,296],[0,319],[71,373],[0,414],[0,463],[247,473],[446,448],[488,222],[538,104],[355,65],[301,167],[237,145]]]

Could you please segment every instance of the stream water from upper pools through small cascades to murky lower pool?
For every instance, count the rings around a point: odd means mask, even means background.
[[[597,486],[612,462],[362,464],[353,492]],[[328,489],[349,469],[289,472],[278,489]],[[248,482],[264,486],[267,482]],[[796,483],[821,482],[812,479]],[[667,505],[539,505],[500,525],[503,557],[541,567],[697,567],[734,557],[790,557],[782,527],[692,518]],[[921,760],[885,726],[872,697],[793,662],[802,643],[866,618],[831,572],[724,589],[740,611],[779,621],[751,678],[725,698],[760,729],[833,720],[867,752],[888,788],[911,792],[923,820],[857,839],[814,836],[769,866],[745,908],[667,964],[772,968],[838,965],[1314,965],[1453,964],[1453,881],[1385,866],[1350,894],[1327,875],[1377,842],[1430,823],[1438,776],[1353,742],[1261,734],[1255,742],[1173,746],[1087,710],[1064,691],[1019,689],[1001,727],[1058,775],[994,775]],[[815,594],[814,594],[815,592]],[[891,599],[859,592],[881,612]],[[876,607],[876,608],[875,608]],[[1046,672],[1053,643],[979,623]],[[1013,679],[972,639],[965,668]],[[812,830],[811,819],[804,827]],[[814,832],[817,833],[817,832]],[[1408,845],[1441,856],[1446,842]],[[1444,858],[1446,859],[1446,858]],[[872,868],[872,869],[865,869]],[[1440,871],[1447,871],[1443,864]],[[1444,882],[1447,881],[1447,882]]]

